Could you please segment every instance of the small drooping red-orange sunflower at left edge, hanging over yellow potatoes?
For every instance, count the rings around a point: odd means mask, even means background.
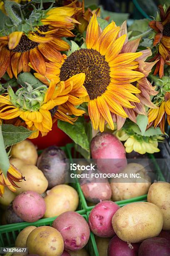
[[[2,195],[4,194],[5,187],[8,187],[10,190],[15,192],[15,187],[18,187],[15,182],[21,182],[23,179],[25,180],[25,177],[22,176],[20,171],[16,169],[13,164],[10,164],[6,178],[2,170],[0,169],[0,197],[2,197]]]

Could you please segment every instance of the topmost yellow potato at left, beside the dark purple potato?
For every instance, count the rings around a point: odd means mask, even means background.
[[[34,144],[29,141],[21,141],[12,146],[10,154],[12,157],[19,158],[28,164],[36,164],[38,154]]]

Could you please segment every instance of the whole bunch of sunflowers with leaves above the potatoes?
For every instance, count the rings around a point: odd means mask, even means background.
[[[23,179],[10,146],[58,127],[90,157],[92,131],[158,152],[170,124],[170,5],[146,31],[84,1],[0,1],[0,193]],[[6,153],[7,152],[7,153]]]

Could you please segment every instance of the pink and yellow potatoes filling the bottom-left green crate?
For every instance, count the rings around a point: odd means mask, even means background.
[[[16,247],[28,247],[28,253],[39,256],[88,256],[84,247],[90,237],[86,220],[77,212],[64,212],[52,226],[28,226],[15,240]],[[18,254],[15,256],[25,256]]]

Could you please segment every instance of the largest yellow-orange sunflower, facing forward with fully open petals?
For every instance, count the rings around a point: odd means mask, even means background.
[[[35,77],[45,82],[45,77],[65,81],[74,74],[85,73],[84,86],[88,96],[88,113],[95,130],[104,130],[104,123],[114,129],[111,113],[123,118],[128,117],[126,108],[135,108],[131,102],[140,102],[133,93],[140,90],[131,83],[144,74],[134,71],[139,64],[134,61],[142,53],[120,54],[126,40],[126,34],[120,35],[120,27],[110,23],[102,32],[94,14],[87,27],[86,46],[70,54],[66,59],[56,63],[46,63],[46,73],[35,73]],[[50,68],[47,68],[49,67]]]

